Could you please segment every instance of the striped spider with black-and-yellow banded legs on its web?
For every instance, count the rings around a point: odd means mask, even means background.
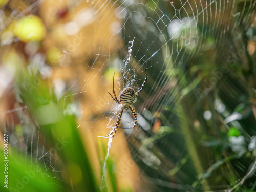
[[[144,68],[145,68],[145,74],[146,74],[146,66],[145,66],[145,63],[144,63]],[[111,95],[111,93],[109,92],[110,96],[112,97],[112,99],[117,103],[117,104],[122,104],[122,108],[120,110],[120,113],[118,115],[118,119],[117,119],[117,122],[116,122],[116,125],[114,127],[114,129],[111,131],[111,133],[109,135],[105,135],[105,136],[98,136],[98,137],[104,137],[104,138],[113,138],[116,134],[116,131],[119,127],[119,124],[120,124],[120,121],[121,121],[121,117],[122,117],[122,113],[123,113],[123,110],[126,110],[126,109],[130,109],[133,113],[133,116],[134,116],[134,125],[131,126],[131,127],[127,127],[127,128],[124,128],[124,127],[120,127],[122,129],[133,129],[136,124],[137,124],[137,113],[135,112],[135,110],[133,109],[132,107],[132,103],[133,101],[135,100],[135,98],[139,95],[139,93],[142,91],[144,85],[146,84],[146,80],[147,80],[147,74],[146,74],[146,78],[141,86],[141,88],[139,87],[139,84],[136,80],[136,83],[137,83],[137,86],[138,86],[138,91],[135,92],[133,88],[131,87],[128,87],[128,88],[125,88],[121,93],[120,93],[120,101],[117,99],[116,97],[116,93],[115,93],[115,90],[114,90],[114,77],[115,77],[115,73],[113,75],[113,94],[114,94],[114,97]]]

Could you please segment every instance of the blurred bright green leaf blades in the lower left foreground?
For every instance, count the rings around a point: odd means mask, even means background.
[[[23,123],[23,127],[19,125],[15,127],[15,135],[9,134],[8,129],[6,130],[6,134],[9,135],[8,189],[10,191],[100,191],[101,180],[97,179],[90,157],[83,147],[76,117],[63,113],[70,103],[69,100],[57,101],[54,92],[49,90],[40,75],[30,74],[26,69],[20,70],[15,80],[16,91],[29,109],[29,115],[33,117],[29,124],[30,126],[36,124],[33,133],[38,134],[32,136],[34,142],[31,141],[31,145],[29,142],[26,143],[27,151],[22,153],[12,145],[11,138],[12,140],[15,137],[27,138],[26,124]],[[32,127],[29,129],[32,130]],[[44,138],[44,141],[41,141],[41,138]],[[106,146],[100,147],[103,149]],[[110,181],[103,181],[106,186],[101,191],[117,191],[114,164],[111,159],[106,161],[108,177],[104,178]],[[3,182],[1,188],[8,191],[3,187]]]

